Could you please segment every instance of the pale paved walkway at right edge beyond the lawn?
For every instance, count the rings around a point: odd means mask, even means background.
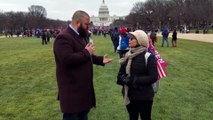
[[[162,36],[161,33],[158,36]],[[172,37],[172,33],[169,33]],[[177,33],[177,38],[213,43],[213,34]]]

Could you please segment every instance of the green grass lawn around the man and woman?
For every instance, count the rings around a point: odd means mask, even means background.
[[[116,84],[118,54],[109,37],[92,36],[96,54],[113,62],[94,65],[97,107],[90,120],[128,120],[121,86]],[[171,39],[170,39],[171,40]],[[153,105],[153,120],[213,119],[213,44],[178,40],[178,47],[160,47],[168,61],[168,77],[161,80]],[[37,38],[0,39],[0,120],[61,120],[53,40],[46,46]]]

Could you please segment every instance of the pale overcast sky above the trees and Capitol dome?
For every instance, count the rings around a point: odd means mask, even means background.
[[[105,0],[109,14],[128,15],[133,4],[145,0]],[[70,20],[74,11],[84,10],[90,16],[98,16],[98,10],[103,0],[0,0],[0,11],[28,12],[31,5],[41,5],[47,11],[47,17],[52,19]]]

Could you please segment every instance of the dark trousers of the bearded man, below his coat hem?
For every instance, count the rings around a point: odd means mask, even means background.
[[[79,112],[79,113],[64,113],[63,120],[88,120],[88,112]]]

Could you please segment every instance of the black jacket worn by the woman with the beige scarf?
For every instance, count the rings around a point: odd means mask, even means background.
[[[131,84],[128,96],[130,100],[153,100],[154,91],[152,84],[157,81],[158,72],[154,55],[150,55],[145,65],[145,53],[134,57],[131,64]],[[126,74],[126,65],[122,64],[117,79],[122,79]]]

